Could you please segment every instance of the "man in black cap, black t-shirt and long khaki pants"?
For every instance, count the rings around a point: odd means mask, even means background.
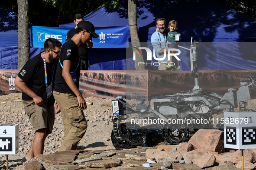
[[[90,41],[91,37],[99,37],[94,25],[89,21],[81,21],[75,29],[75,35],[63,44],[60,52],[53,95],[62,110],[65,134],[58,151],[76,149],[87,129],[83,112],[86,102],[78,90],[81,64],[78,47]]]

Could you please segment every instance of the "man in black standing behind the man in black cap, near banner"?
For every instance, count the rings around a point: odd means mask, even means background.
[[[83,16],[79,13],[75,15],[75,25],[78,25],[79,22],[84,21]],[[76,26],[75,26],[76,28]],[[75,34],[75,28],[68,31],[66,36],[66,41],[68,41],[70,38],[72,38]],[[88,41],[86,44],[80,44],[79,45],[79,57],[80,57],[80,63],[81,63],[81,70],[88,70],[89,67],[89,61],[88,61],[88,47],[92,48],[93,43],[92,39]]]

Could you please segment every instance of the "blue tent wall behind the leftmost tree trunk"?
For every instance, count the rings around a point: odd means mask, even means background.
[[[30,23],[30,26],[32,25],[34,24]],[[38,54],[40,51],[42,51],[42,48],[31,47],[31,58]],[[0,69],[17,69],[17,67],[18,16],[6,5],[2,4],[0,6]]]

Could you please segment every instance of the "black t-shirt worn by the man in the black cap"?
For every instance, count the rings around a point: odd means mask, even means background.
[[[56,71],[56,77],[55,77],[55,86],[54,91],[58,91],[61,93],[73,93],[73,91],[68,87],[68,84],[66,83],[64,77],[62,76],[62,66],[64,60],[70,60],[71,61],[71,69],[76,70],[75,75],[77,79],[76,86],[79,88],[79,79],[80,79],[80,65],[81,62],[79,62],[79,53],[78,53],[78,46],[74,43],[71,39],[69,39],[67,42],[65,42],[62,45],[62,49],[59,56],[59,62],[57,65],[57,71]],[[62,66],[61,66],[61,64]],[[79,64],[78,64],[79,63]]]

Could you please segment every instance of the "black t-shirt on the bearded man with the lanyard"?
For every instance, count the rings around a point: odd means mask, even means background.
[[[26,83],[26,85],[39,97],[45,101],[45,105],[52,106],[55,102],[53,95],[47,98],[46,94],[46,85],[45,85],[45,69],[44,61],[41,57],[41,54],[36,55],[31,60],[26,62],[23,68],[18,73],[20,79]],[[52,82],[53,68],[55,68],[54,74],[56,73],[56,66],[54,64],[46,62],[46,72],[47,72],[47,83],[48,85]],[[53,77],[54,78],[54,77]],[[54,82],[54,79],[53,79]],[[52,82],[52,88],[54,83]],[[22,100],[31,101],[33,98],[29,97],[25,93],[22,93]]]

